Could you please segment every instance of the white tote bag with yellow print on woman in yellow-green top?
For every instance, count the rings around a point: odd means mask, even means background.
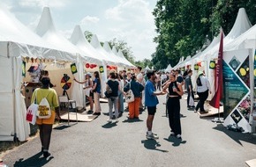
[[[37,93],[37,91],[36,91]],[[37,114],[36,116],[39,119],[49,119],[51,116],[51,111],[50,111],[50,107],[49,107],[49,102],[47,100],[47,96],[49,95],[49,93],[46,95],[45,98],[41,99],[40,104],[38,105],[38,110],[37,110]]]

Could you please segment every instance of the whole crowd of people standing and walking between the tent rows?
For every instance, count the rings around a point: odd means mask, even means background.
[[[201,113],[206,112],[204,103],[210,90],[207,77],[204,76],[203,72],[199,72],[196,87],[200,100],[196,106],[191,105],[189,98],[194,98],[191,76],[192,69],[186,70],[183,76],[180,69],[167,73],[153,70],[142,71],[140,67],[137,67],[133,73],[125,70],[119,71],[119,73],[110,71],[108,81],[104,83],[106,84],[104,95],[105,98],[108,98],[109,104],[109,119],[107,121],[112,123],[115,120],[117,123],[124,110],[129,111],[128,119],[139,119],[139,113],[147,108],[147,139],[158,139],[158,135],[152,131],[156,105],[159,104],[157,96],[166,95],[170,134],[181,139],[180,99],[184,94],[183,90],[187,91],[188,109],[195,109],[196,112],[200,110]],[[102,113],[100,103],[102,81],[99,72],[95,71],[94,77],[87,73],[85,81],[78,81],[76,78],[74,81],[84,84],[85,94],[90,105],[87,113],[100,116]],[[31,103],[39,104],[41,98],[47,98],[49,101],[52,116],[49,119],[37,119],[36,121],[40,128],[41,151],[43,156],[49,157],[51,128],[55,117],[60,120],[60,113],[56,91],[50,88],[52,84],[50,84],[48,75],[41,77],[41,84],[41,88],[34,91]],[[130,90],[132,90],[134,100],[128,103],[127,108],[124,109],[124,97]],[[211,93],[211,91],[209,92]],[[49,94],[50,96],[48,96]]]

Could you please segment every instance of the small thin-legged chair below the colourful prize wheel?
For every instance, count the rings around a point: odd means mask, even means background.
[[[78,123],[79,120],[78,120],[78,110],[77,110],[76,100],[69,100],[67,96],[59,96],[58,99],[59,99],[60,104],[64,103],[65,106],[67,106],[67,108],[68,108],[68,126],[70,125],[70,112],[72,110],[75,110],[76,120],[77,120],[77,123]]]

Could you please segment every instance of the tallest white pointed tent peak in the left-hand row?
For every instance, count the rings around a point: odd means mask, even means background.
[[[41,13],[40,21],[36,27],[35,32],[43,36],[47,32],[56,32],[55,25],[53,24],[53,19],[51,17],[49,7],[44,7]]]

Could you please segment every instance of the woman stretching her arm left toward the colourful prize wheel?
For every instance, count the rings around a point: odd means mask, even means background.
[[[75,77],[74,77],[74,81],[79,83],[79,84],[85,84],[84,90],[86,91],[86,97],[88,97],[88,101],[90,104],[90,110],[87,112],[88,114],[94,113],[94,92],[91,91],[94,83],[92,80],[92,75],[91,73],[87,73],[86,74],[86,80],[85,81],[78,81]]]

